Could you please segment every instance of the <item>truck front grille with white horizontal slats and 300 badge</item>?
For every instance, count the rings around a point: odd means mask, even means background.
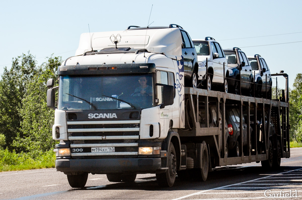
[[[73,158],[137,157],[140,124],[131,121],[68,121]],[[92,148],[114,147],[114,152],[92,152]]]

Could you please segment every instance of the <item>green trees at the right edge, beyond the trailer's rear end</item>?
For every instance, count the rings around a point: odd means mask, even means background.
[[[289,93],[289,123],[291,140],[302,141],[302,74],[298,73]]]

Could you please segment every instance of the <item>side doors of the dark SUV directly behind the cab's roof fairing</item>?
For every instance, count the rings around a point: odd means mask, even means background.
[[[188,72],[191,71],[192,69],[192,60],[190,56],[190,50],[192,49],[192,46],[186,32],[185,31],[180,31],[180,32],[182,33],[182,42],[184,43],[182,47],[182,56],[184,57],[184,73],[185,76],[187,76]]]

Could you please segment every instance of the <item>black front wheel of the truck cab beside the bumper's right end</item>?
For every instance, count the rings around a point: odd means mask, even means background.
[[[176,177],[176,152],[173,143],[170,142],[168,151],[168,169],[165,173],[156,174],[156,180],[159,186],[172,187]]]

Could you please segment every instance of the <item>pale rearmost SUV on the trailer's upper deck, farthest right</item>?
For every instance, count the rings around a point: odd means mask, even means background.
[[[255,73],[255,96],[271,99],[271,71],[264,58],[259,54],[248,56],[252,72]],[[266,88],[265,88],[266,86]]]

